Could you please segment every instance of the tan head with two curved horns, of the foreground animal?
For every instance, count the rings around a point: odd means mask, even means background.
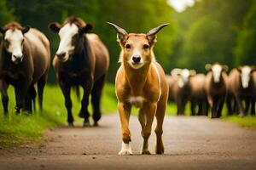
[[[142,68],[146,63],[154,59],[153,47],[156,42],[156,34],[168,24],[158,26],[147,34],[127,33],[123,28],[108,22],[117,31],[117,41],[119,42],[122,52],[120,62],[126,62],[133,69]]]

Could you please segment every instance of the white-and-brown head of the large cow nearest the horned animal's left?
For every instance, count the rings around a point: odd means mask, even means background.
[[[61,25],[57,22],[49,24],[49,30],[59,34],[60,44],[56,56],[65,62],[74,54],[75,49],[83,45],[84,33],[92,30],[91,24],[85,24],[79,17],[68,17]]]

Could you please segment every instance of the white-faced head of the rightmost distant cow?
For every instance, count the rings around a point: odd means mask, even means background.
[[[253,79],[253,71],[256,71],[255,66],[243,65],[236,68],[240,72],[242,88],[248,88],[249,82]]]

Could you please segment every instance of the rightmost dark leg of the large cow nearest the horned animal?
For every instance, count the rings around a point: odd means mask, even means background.
[[[105,75],[102,76],[99,80],[97,80],[93,88],[91,90],[91,104],[93,106],[93,120],[94,126],[98,126],[98,121],[101,119],[101,97],[102,97],[102,89],[104,86]]]

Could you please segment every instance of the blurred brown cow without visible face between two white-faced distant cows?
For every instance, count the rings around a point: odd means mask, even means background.
[[[207,116],[208,112],[208,102],[207,102],[207,94],[205,90],[205,81],[206,76],[204,74],[197,74],[194,77],[190,78],[190,103],[191,103],[191,115],[195,116],[195,107],[198,106],[197,115],[205,115]]]

